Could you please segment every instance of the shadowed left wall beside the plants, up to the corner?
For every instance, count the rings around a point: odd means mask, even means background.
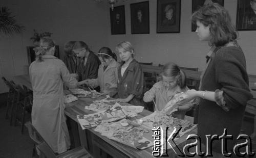
[[[108,3],[94,0],[0,0],[0,6],[7,6],[19,23],[26,27],[23,37],[7,37],[0,34],[0,77],[17,82],[13,76],[28,73],[26,46],[32,46],[33,29],[52,32],[52,38],[59,45],[60,58],[63,46],[70,40],[86,42],[94,52],[108,45],[106,15]],[[18,83],[18,82],[17,82]],[[0,80],[0,93],[9,89]]]

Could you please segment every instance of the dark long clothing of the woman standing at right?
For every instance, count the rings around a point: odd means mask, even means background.
[[[252,98],[248,87],[246,61],[240,46],[221,47],[214,54],[201,82],[203,91],[222,90],[224,101],[230,110],[225,112],[216,102],[201,99],[198,136],[206,145],[206,135],[222,136],[226,128],[227,135],[233,136],[233,141],[227,140],[226,143],[229,151],[240,133],[246,103]],[[221,153],[221,148],[221,140],[212,143],[213,151]]]

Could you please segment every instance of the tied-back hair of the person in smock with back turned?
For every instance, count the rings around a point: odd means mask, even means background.
[[[44,61],[42,59],[42,56],[46,54],[47,51],[49,51],[52,47],[55,46],[55,42],[50,37],[43,37],[39,41],[39,50],[37,53],[36,60],[42,62]]]

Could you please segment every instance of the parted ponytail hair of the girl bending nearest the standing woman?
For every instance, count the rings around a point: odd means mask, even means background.
[[[162,76],[178,77],[177,83],[180,86],[180,88],[186,87],[186,74],[182,70],[180,70],[179,66],[175,63],[165,64],[160,73],[160,80],[163,80]]]

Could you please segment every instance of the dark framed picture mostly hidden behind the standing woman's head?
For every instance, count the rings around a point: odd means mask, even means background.
[[[207,3],[208,0],[192,0],[192,14],[198,10],[200,7]],[[221,6],[224,6],[224,0],[212,0],[213,3],[218,3]],[[195,32],[197,30],[197,25],[191,23],[191,31]]]

